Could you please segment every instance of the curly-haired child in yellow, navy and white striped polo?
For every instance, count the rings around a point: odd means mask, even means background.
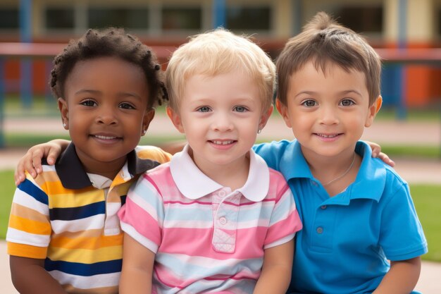
[[[123,30],[89,30],[54,59],[51,88],[72,143],[15,191],[13,284],[20,293],[118,293],[118,209],[141,173],[170,159],[156,147],[135,151],[166,95],[160,66]]]

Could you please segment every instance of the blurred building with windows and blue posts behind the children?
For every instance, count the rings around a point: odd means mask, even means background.
[[[1,42],[66,44],[89,27],[107,26],[125,27],[151,46],[177,47],[188,35],[221,24],[254,35],[275,59],[317,11],[361,32],[378,49],[441,47],[441,0],[1,0],[0,47]],[[32,92],[47,92],[44,62],[32,61]],[[6,92],[19,90],[18,63],[5,59]],[[385,106],[439,104],[440,81],[439,63],[411,64],[404,71],[385,66]]]

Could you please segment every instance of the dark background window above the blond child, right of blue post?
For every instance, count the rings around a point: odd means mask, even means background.
[[[226,27],[230,30],[271,30],[271,8],[228,7]]]

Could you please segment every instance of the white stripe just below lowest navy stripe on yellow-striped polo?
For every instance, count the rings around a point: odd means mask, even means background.
[[[73,274],[63,273],[63,271],[49,271],[49,274],[51,274],[51,276],[53,276],[61,285],[70,284],[79,289],[91,289],[118,286],[121,273],[75,276]]]

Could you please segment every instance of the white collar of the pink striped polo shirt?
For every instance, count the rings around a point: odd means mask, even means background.
[[[189,145],[182,152],[173,155],[170,161],[170,173],[173,180],[185,197],[196,200],[205,195],[224,188],[221,184],[206,176],[188,154]],[[248,200],[259,202],[268,195],[270,173],[266,162],[256,155],[253,150],[249,152],[249,173],[247,182],[242,188],[237,189]]]

